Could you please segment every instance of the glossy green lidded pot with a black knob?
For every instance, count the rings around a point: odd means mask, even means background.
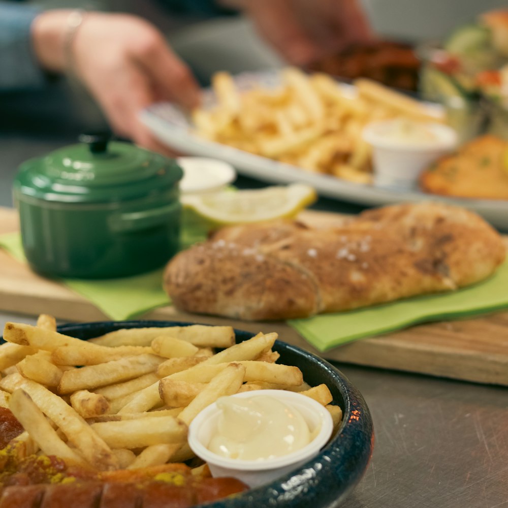
[[[49,276],[110,278],[164,265],[179,247],[182,169],[128,143],[80,141],[18,170],[14,201],[30,266]]]

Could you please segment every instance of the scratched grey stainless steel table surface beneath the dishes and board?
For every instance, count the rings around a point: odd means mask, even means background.
[[[37,132],[38,131],[38,132]],[[16,167],[75,140],[75,132],[34,134],[0,129],[0,206],[12,205]],[[261,185],[241,180],[242,186]],[[320,200],[320,208],[360,207]],[[6,321],[34,316],[0,312]],[[337,364],[372,412],[375,448],[345,508],[508,507],[508,391],[401,372]],[[333,489],[333,485],[330,486]]]

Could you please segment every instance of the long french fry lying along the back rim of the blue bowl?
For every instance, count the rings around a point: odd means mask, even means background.
[[[110,347],[120,345],[149,346],[154,338],[161,335],[186,340],[198,347],[229,347],[235,343],[233,327],[209,325],[121,329],[106,333],[88,342]]]

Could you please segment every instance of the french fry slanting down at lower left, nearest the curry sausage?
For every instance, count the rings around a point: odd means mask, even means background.
[[[87,467],[86,462],[63,442],[51,427],[43,412],[23,390],[15,390],[9,408],[28,435],[34,439],[46,455],[56,455],[71,464]]]

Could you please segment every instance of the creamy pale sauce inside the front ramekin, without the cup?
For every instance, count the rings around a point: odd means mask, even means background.
[[[266,395],[220,397],[217,428],[208,449],[222,457],[263,460],[306,446],[319,429],[310,431],[291,404]]]

